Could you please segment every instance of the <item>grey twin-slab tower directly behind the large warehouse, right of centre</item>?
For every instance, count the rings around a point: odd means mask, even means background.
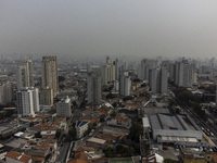
[[[168,72],[165,67],[150,71],[149,85],[153,93],[167,93]]]

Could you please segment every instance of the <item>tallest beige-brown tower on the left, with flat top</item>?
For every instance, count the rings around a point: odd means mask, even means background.
[[[56,57],[42,57],[41,73],[42,89],[51,88],[55,97],[59,92]]]

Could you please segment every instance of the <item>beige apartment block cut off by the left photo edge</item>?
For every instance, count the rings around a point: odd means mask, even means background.
[[[7,82],[0,85],[0,104],[7,104],[13,100],[13,84]]]

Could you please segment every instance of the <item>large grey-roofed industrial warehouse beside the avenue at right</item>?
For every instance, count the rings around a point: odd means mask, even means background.
[[[203,146],[201,128],[186,114],[152,114],[149,116],[149,123],[153,139],[157,142]]]

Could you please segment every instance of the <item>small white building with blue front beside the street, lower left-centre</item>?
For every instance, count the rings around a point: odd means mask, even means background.
[[[78,121],[76,124],[76,134],[77,134],[77,138],[81,138],[84,136],[84,134],[86,133],[86,130],[88,130],[89,127],[89,121]]]

